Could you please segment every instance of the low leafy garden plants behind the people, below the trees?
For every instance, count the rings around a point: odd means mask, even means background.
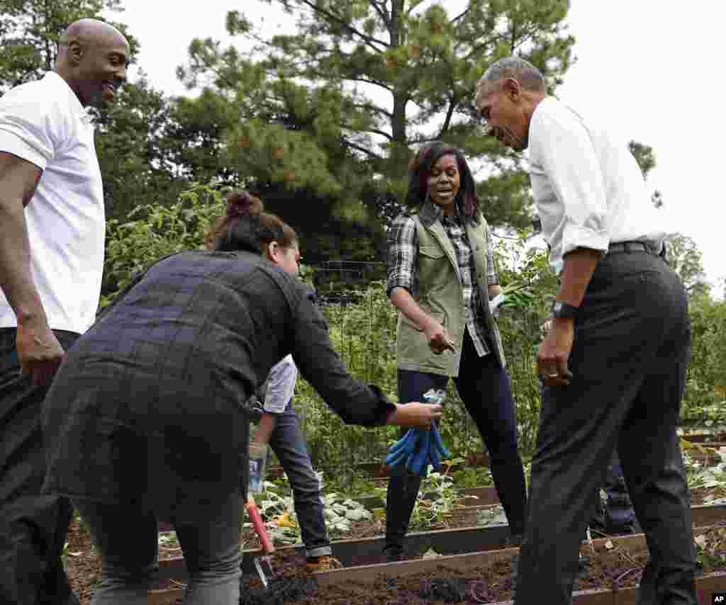
[[[139,207],[135,221],[112,223],[105,279],[120,288],[134,272],[160,256],[203,247],[208,226],[223,209],[219,187],[197,185],[181,194],[174,205]],[[534,451],[539,421],[539,382],[534,374],[537,346],[558,291],[545,251],[529,247],[530,236],[531,231],[519,231],[511,239],[499,239],[497,247],[502,284],[523,282],[534,295],[529,308],[502,310],[499,316],[517,406],[519,444],[525,458]],[[307,277],[311,278],[310,272]],[[321,293],[325,295],[325,291]],[[327,303],[322,309],[330,323],[333,345],[351,374],[378,384],[396,400],[396,310],[386,297],[383,281],[370,281],[354,296],[343,297],[341,303]],[[726,340],[722,337],[726,333],[726,303],[700,292],[691,296],[691,316],[693,361],[688,369],[682,420],[684,424],[726,424]],[[388,445],[397,438],[394,427],[370,430],[346,426],[303,379],[298,380],[295,390],[295,409],[306,430],[314,464],[343,485],[361,480],[365,473],[356,470],[356,464],[380,463]],[[482,450],[476,426],[453,383],[449,384],[441,435],[452,456]]]

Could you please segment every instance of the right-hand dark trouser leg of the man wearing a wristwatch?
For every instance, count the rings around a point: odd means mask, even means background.
[[[669,273],[671,273],[669,271]],[[674,274],[671,275],[675,279]],[[685,314],[685,294],[682,314]],[[676,425],[685,388],[690,323],[672,316],[674,332],[661,345],[620,435],[619,454],[630,499],[648,541],[639,605],[695,605],[696,551],[690,491]],[[643,436],[648,438],[644,439]]]

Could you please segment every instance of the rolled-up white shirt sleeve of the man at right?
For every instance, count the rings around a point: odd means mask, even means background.
[[[586,128],[572,112],[535,112],[530,127],[531,161],[544,170],[563,206],[561,255],[576,248],[608,250],[610,226],[605,182]],[[560,214],[560,213],[558,213]]]

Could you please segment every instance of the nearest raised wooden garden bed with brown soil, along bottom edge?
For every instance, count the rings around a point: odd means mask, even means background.
[[[726,540],[726,526],[719,524],[696,530],[699,539]],[[647,559],[643,535],[594,540],[592,549],[581,550],[589,559],[582,568],[573,595],[576,605],[635,605],[637,580]],[[451,602],[457,604],[511,604],[518,548],[476,552],[431,559],[400,561],[340,569],[317,575],[314,580],[300,577],[300,562],[290,553],[280,553],[274,567],[280,576],[262,590],[258,580],[243,584],[243,603],[266,603],[266,595],[287,585],[293,598],[281,599],[289,605]],[[163,584],[163,580],[160,582]],[[726,563],[706,562],[703,575],[697,578],[699,605],[711,605],[711,594],[726,587]],[[280,592],[277,592],[280,595]],[[157,590],[150,602],[170,605],[181,598],[181,588]]]

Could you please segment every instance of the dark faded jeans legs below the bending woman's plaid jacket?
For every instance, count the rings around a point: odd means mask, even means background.
[[[156,569],[158,530],[153,511],[138,506],[74,500],[101,555],[101,585],[92,605],[146,605]],[[171,519],[189,572],[185,605],[237,605],[240,601],[240,494]],[[199,518],[197,518],[199,517]]]

